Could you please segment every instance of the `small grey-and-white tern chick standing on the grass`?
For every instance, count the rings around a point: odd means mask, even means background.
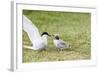
[[[59,38],[59,35],[53,35],[53,42],[54,45],[57,47],[58,51],[59,50],[62,51],[63,49],[70,48],[69,44],[67,44],[66,42],[64,42]]]

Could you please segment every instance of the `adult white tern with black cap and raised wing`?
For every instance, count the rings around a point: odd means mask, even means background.
[[[42,50],[46,49],[47,45],[47,32],[43,32],[42,35],[39,34],[38,28],[26,17],[23,15],[23,30],[27,32],[30,41],[33,46],[24,45],[25,48],[30,48],[33,50]]]

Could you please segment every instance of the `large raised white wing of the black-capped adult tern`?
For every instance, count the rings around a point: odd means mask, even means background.
[[[27,32],[34,48],[37,49],[39,44],[41,43],[41,36],[37,27],[26,17],[23,15],[23,30]]]

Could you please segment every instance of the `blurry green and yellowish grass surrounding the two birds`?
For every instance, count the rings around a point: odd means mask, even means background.
[[[60,38],[70,43],[71,48],[58,52],[53,41],[48,38],[46,51],[23,48],[23,62],[86,60],[91,58],[91,14],[78,12],[50,12],[23,10],[40,33],[58,33]],[[23,31],[23,44],[32,45]]]

